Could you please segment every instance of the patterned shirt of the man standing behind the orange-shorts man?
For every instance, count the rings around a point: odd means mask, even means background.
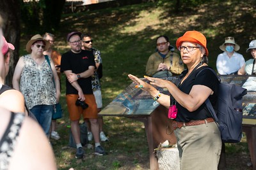
[[[92,51],[93,51],[95,63],[102,64],[102,59],[100,57],[100,51],[97,50],[96,48],[92,48]],[[92,76],[92,90],[93,91],[100,90],[100,79],[99,79],[97,71],[94,71],[94,74]]]

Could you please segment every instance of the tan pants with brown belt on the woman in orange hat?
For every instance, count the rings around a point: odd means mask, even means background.
[[[220,131],[215,122],[177,128],[180,170],[217,170],[221,153]]]

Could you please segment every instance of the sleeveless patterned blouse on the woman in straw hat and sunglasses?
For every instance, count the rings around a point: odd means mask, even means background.
[[[36,64],[31,55],[24,55],[24,67],[20,76],[20,92],[24,95],[29,108],[36,105],[56,104],[56,89],[54,87],[51,67],[45,59],[41,65]]]

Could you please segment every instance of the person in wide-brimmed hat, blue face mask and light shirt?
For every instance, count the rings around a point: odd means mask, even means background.
[[[240,46],[235,42],[234,37],[226,37],[225,42],[220,46],[220,53],[217,57],[216,67],[219,74],[237,74],[243,67],[245,60],[243,55],[237,53]]]

